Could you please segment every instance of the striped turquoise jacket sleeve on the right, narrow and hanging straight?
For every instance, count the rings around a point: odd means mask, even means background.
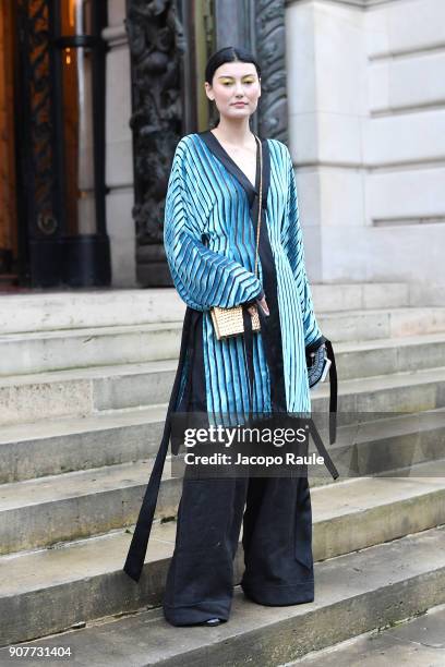
[[[305,270],[303,234],[300,225],[297,182],[293,172],[292,159],[287,146],[285,146],[285,149],[286,166],[288,170],[287,182],[289,187],[281,240],[292,268],[297,289],[300,295],[304,326],[304,345],[308,347],[322,336],[322,331],[314,314],[312,293]]]

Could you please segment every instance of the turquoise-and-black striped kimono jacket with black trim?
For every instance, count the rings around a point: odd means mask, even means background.
[[[263,205],[254,275],[256,153],[254,186],[211,131],[189,134],[176,148],[164,241],[175,286],[188,308],[164,436],[123,568],[135,581],[144,563],[171,414],[202,411],[209,423],[224,425],[243,424],[252,413],[304,416],[311,412],[305,349],[321,339],[330,345],[312,304],[292,161],[277,140],[262,140]],[[249,337],[251,349],[245,336],[217,340],[209,308],[254,303],[263,292],[269,316],[260,313],[261,331]],[[336,404],[336,386],[334,398]],[[320,436],[315,444],[325,461],[329,459]],[[330,472],[338,475],[335,468]]]

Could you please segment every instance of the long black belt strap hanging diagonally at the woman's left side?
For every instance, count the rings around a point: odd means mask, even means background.
[[[166,461],[168,444],[171,434],[171,412],[176,407],[182,376],[182,368],[189,345],[191,345],[191,363],[193,362],[194,333],[197,317],[200,314],[200,312],[193,311],[190,307],[188,307],[185,312],[181,338],[181,349],[179,352],[178,369],[175,377],[170,401],[168,404],[163,439],[160,441],[155,464],[153,466],[152,474],[149,476],[149,482],[147,484],[144,499],[142,501],[137,522],[130,544],[129,553],[127,555],[125,565],[123,566],[123,571],[127,572],[127,574],[136,582],[141,578],[141,573],[144,567],[145,555],[147,551],[149,534],[152,532],[153,519],[155,516],[156,502],[159,494],[160,480],[163,477],[164,464]],[[188,392],[188,395],[190,392],[190,385],[191,383],[188,383],[185,385],[185,391]]]

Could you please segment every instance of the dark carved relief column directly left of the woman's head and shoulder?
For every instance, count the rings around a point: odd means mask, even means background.
[[[181,138],[180,62],[185,46],[176,2],[128,0],[127,32],[132,61],[134,189],[137,265],[160,264],[165,193],[175,147]],[[146,282],[144,269],[140,281]],[[152,271],[153,272],[153,271]]]

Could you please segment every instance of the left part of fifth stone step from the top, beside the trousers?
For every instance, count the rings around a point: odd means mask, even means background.
[[[153,459],[0,486],[0,554],[106,533],[136,520]],[[181,480],[166,464],[157,517],[176,516]]]

